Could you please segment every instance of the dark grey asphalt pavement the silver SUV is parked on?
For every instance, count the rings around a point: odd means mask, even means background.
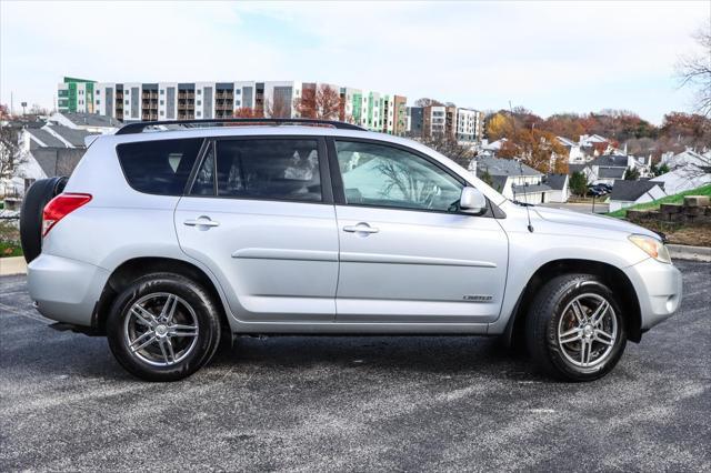
[[[239,339],[139,382],[0,279],[0,471],[711,471],[711,264],[681,313],[588,384],[482,338]]]

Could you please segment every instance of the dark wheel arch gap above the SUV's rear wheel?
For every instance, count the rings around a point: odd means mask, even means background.
[[[133,258],[119,264],[107,280],[97,301],[91,316],[92,329],[99,334],[106,334],[107,318],[117,295],[137,278],[156,272],[176,273],[200,283],[216,301],[223,328],[229,330],[224,298],[218,289],[218,282],[191,262],[164,256]]]

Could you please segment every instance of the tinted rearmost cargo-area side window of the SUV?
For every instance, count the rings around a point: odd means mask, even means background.
[[[182,195],[202,139],[156,140],[117,147],[126,180],[139,192]]]

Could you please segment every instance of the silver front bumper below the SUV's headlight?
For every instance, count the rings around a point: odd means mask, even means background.
[[[681,305],[681,272],[673,264],[647,259],[624,270],[640,304],[641,330],[672,316]]]

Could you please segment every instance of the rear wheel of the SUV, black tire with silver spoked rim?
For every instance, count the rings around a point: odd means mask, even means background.
[[[148,381],[176,381],[206,364],[220,342],[220,316],[209,293],[172,273],[146,275],[116,300],[107,320],[119,363]]]

